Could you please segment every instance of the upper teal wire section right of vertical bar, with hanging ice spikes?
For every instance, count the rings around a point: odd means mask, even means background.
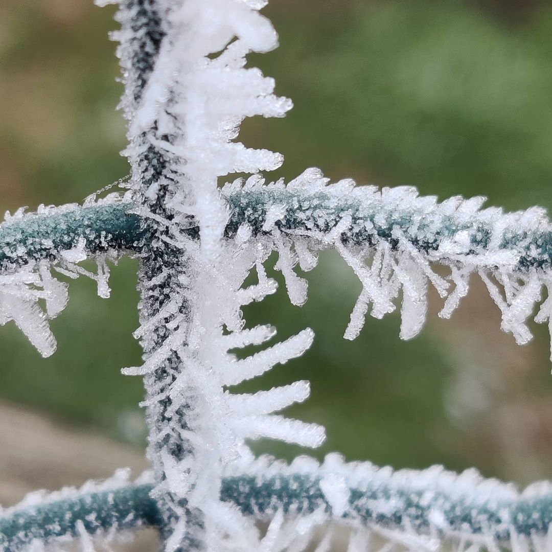
[[[397,298],[401,338],[417,336],[426,320],[429,286],[444,299],[439,316],[449,318],[475,274],[501,311],[502,329],[524,344],[532,338],[528,322],[543,288],[550,293],[552,225],[542,209],[503,214],[480,209],[480,197],[438,203],[411,187],[355,187],[350,179],[330,184],[316,168],[288,185],[265,184],[258,175],[237,179],[223,194],[248,221],[258,217],[262,223],[257,239],[278,252],[276,268],[294,304],[306,300],[306,280],[295,265],[314,268],[323,248],[341,254],[362,283],[347,339],[359,335],[368,313],[380,319],[394,311]],[[437,264],[448,274],[437,272]],[[549,321],[551,308],[546,299],[534,320]]]

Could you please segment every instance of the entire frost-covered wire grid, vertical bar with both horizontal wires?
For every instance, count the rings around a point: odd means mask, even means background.
[[[259,437],[311,448],[325,438],[321,426],[280,414],[307,399],[307,381],[232,392],[300,356],[314,338],[305,328],[264,345],[275,329],[243,320],[243,305],[277,288],[266,270],[273,252],[294,305],[307,299],[302,273],[315,268],[318,252],[341,254],[362,283],[347,339],[368,314],[379,319],[399,305],[401,337],[415,337],[429,286],[446,318],[475,274],[518,343],[532,337],[535,307],[535,320],[549,324],[552,309],[552,225],[542,209],[505,214],[481,209],[479,197],[438,203],[413,188],[330,184],[319,169],[288,183],[265,181],[282,156],[237,141],[247,116],[291,108],[273,94],[273,79],[246,68],[248,53],[277,45],[259,14],[265,3],[121,0],[114,38],[128,120],[126,190],[93,194],[83,205],[19,210],[0,225],[0,323],[14,321],[45,357],[56,348],[48,321],[67,302],[63,277],[93,278],[107,298],[109,263],[125,254],[139,259],[134,336],[144,363],[123,373],[144,377],[152,464],[134,482],[121,471],[0,511],[0,548],[59,550],[77,538],[88,551],[153,526],[167,552],[313,545],[323,552],[337,534],[349,552],[552,549],[548,484],[519,493],[473,471],[393,472],[338,455],[288,466],[248,448]],[[97,270],[82,266],[87,259]],[[258,352],[236,354],[252,345]]]

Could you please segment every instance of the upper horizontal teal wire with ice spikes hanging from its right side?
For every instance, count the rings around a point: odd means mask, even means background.
[[[380,191],[372,186],[355,187],[349,179],[328,184],[318,169],[307,169],[288,185],[265,185],[262,177],[254,175],[245,182],[238,179],[226,184],[221,193],[229,208],[225,241],[240,243],[246,237],[271,251],[284,243],[291,265],[284,272],[288,287],[301,282],[299,287],[306,290],[306,281],[295,277],[293,269],[297,264],[304,272],[314,268],[317,251],[335,247],[342,253],[363,283],[346,331],[349,339],[362,329],[361,315],[371,302],[384,305],[388,310],[383,314],[395,309],[391,300],[402,284],[400,271],[395,274],[394,267],[406,262],[401,261],[405,257],[401,251],[420,263],[427,282],[446,298],[439,313],[444,318],[453,314],[468,293],[470,274],[480,274],[500,307],[503,330],[512,332],[518,343],[531,338],[526,323],[542,299],[543,287],[549,292],[552,226],[540,208],[507,214],[498,208],[480,210],[482,197],[454,197],[439,204],[434,197],[418,197],[411,187]],[[197,221],[190,218],[183,233],[197,240]],[[94,205],[42,208],[36,214],[20,210],[8,214],[0,226],[0,274],[4,282],[12,282],[15,278],[10,274],[33,273],[29,278],[34,284],[38,267],[57,270],[82,248],[84,255],[96,261],[102,256],[116,259],[121,254],[140,254],[151,236],[151,220],[137,215],[135,205],[119,194]],[[385,255],[387,282],[383,267],[378,272]],[[282,263],[284,259],[279,266]],[[450,274],[435,274],[432,263],[449,267]],[[385,302],[378,291],[388,293]],[[295,293],[294,304],[306,299],[302,292],[291,293]],[[421,308],[425,294],[420,295],[418,331],[425,311]],[[548,301],[540,306],[538,322],[548,320],[549,308]],[[371,314],[379,318],[381,312],[374,308]],[[404,322],[401,336],[413,337],[406,328]]]

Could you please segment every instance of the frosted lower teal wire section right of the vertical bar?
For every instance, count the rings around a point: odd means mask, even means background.
[[[327,455],[322,464],[308,457],[290,465],[261,457],[234,463],[225,475],[243,476],[236,500],[254,512],[246,518],[250,527],[242,530],[253,534],[247,550],[545,552],[552,542],[548,526],[541,535],[516,531],[514,523],[526,514],[524,508],[517,514],[512,508],[528,501],[527,516],[538,519],[530,501],[550,496],[546,483],[520,493],[512,484],[483,479],[474,469],[461,474],[442,466],[394,471],[368,462],[347,464],[338,454]],[[293,481],[289,489],[287,481]],[[257,509],[252,487],[269,482],[275,496],[284,487],[283,496]],[[297,489],[300,496],[294,501],[290,495]],[[268,524],[264,536],[254,535],[259,520]]]

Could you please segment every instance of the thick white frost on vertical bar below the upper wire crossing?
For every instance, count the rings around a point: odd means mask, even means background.
[[[185,368],[168,389],[164,381],[147,380],[150,398],[146,406],[170,399],[171,407],[166,416],[174,418],[164,431],[178,432],[194,447],[192,454],[180,460],[161,453],[166,479],[158,485],[156,494],[171,492],[186,497],[189,507],[201,509],[206,549],[222,550],[235,539],[240,540],[238,535],[245,527],[236,508],[221,503],[219,498],[224,466],[252,459],[245,439],[268,437],[305,447],[317,447],[324,439],[320,426],[277,414],[307,398],[309,384],[306,381],[246,395],[232,394],[227,388],[298,357],[312,343],[313,334],[307,328],[284,342],[238,359],[232,351],[261,345],[275,334],[270,326],[244,329],[240,310],[241,306],[262,300],[276,289],[274,280],[267,278],[262,266],[269,250],[254,241],[240,246],[225,243],[217,261],[209,265],[204,264],[198,244],[190,244],[188,252],[193,253],[190,264],[194,266],[189,282],[193,298],[190,320],[173,318],[172,336],[142,366],[127,368],[124,373],[151,374],[173,350],[185,363]],[[256,267],[258,281],[243,288],[243,280],[252,267]],[[167,319],[173,308],[169,303],[168,310],[158,316]],[[138,332],[141,331],[139,328]],[[179,408],[187,408],[185,429],[178,425],[179,418],[175,416]],[[187,530],[185,524],[183,511],[167,549],[178,546]]]

